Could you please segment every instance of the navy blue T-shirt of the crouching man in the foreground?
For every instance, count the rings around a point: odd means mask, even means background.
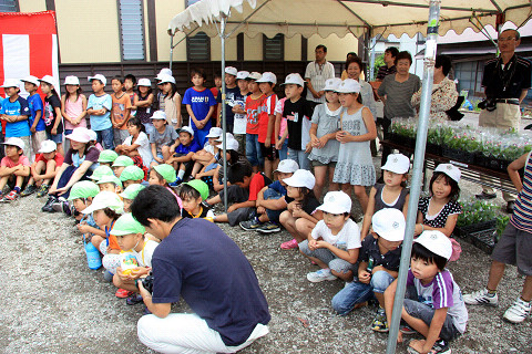
[[[225,345],[244,343],[258,323],[270,320],[249,261],[213,222],[177,221],[153,252],[152,268],[153,303],[183,298]]]

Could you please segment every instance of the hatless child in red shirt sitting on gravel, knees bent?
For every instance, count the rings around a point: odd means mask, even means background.
[[[255,211],[257,195],[264,186],[272,180],[263,174],[255,174],[249,164],[235,164],[227,170],[227,179],[231,186],[227,187],[227,200],[234,202],[227,208],[227,214],[214,217],[215,222],[228,222],[236,226],[238,222],[248,220],[249,215]],[[212,206],[224,200],[224,191],[207,200]]]

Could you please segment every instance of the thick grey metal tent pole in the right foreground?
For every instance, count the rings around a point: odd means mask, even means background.
[[[416,138],[416,152],[413,158],[413,176],[410,188],[410,202],[408,204],[407,228],[405,241],[402,242],[401,263],[397,278],[396,298],[393,299],[393,312],[391,323],[388,323],[390,333],[388,336],[387,354],[396,353],[397,335],[399,333],[399,321],[401,320],[402,302],[407,288],[407,274],[410,267],[410,253],[412,251],[413,229],[418,214],[418,201],[421,192],[421,177],[423,174],[424,147],[427,144],[427,129],[430,113],[430,98],[434,74],[434,59],[438,39],[438,25],[440,18],[441,0],[430,0],[429,24],[427,29],[427,42],[424,50],[423,86],[421,91],[421,104],[418,121],[418,135]]]

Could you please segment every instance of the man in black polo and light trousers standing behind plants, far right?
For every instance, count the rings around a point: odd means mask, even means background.
[[[499,34],[498,46],[501,55],[485,63],[482,86],[485,100],[479,116],[479,126],[494,126],[519,129],[521,123],[520,104],[530,88],[531,64],[515,55],[515,48],[521,43],[520,34],[514,29],[503,30]],[[481,106],[481,104],[479,104]],[[507,211],[513,211],[515,196],[503,192],[508,202]],[[477,195],[479,199],[495,198],[492,188],[483,187]]]

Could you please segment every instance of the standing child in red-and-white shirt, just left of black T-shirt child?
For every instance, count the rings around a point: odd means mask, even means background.
[[[274,93],[277,77],[274,73],[265,72],[257,80],[258,87],[264,95],[260,104],[260,113],[258,114],[258,143],[260,145],[260,155],[264,158],[264,174],[272,177],[274,166],[279,163],[277,149],[275,148],[275,105],[277,104],[277,95]]]

